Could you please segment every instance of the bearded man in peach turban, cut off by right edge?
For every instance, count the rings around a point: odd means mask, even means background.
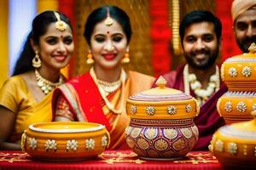
[[[248,53],[256,42],[256,0],[235,0],[231,8],[236,43],[243,53]]]

